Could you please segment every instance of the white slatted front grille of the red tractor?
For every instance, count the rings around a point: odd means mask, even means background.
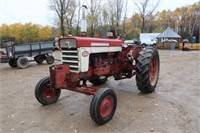
[[[62,63],[69,64],[71,72],[79,72],[77,48],[62,48]]]

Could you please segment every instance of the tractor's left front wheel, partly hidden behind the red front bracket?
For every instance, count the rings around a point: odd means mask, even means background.
[[[50,87],[50,77],[41,79],[35,87],[35,97],[43,105],[55,103],[60,97],[61,89]]]

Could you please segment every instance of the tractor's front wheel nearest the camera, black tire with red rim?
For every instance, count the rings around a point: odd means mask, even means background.
[[[114,90],[100,89],[93,97],[90,105],[90,116],[98,125],[109,122],[117,107],[117,96]]]

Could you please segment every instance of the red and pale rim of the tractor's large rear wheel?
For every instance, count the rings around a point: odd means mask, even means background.
[[[155,85],[158,78],[158,61],[156,56],[151,59],[150,64],[150,82],[151,85]]]

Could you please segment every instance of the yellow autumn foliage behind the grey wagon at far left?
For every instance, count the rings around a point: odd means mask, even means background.
[[[3,24],[0,26],[1,40],[6,38],[15,38],[16,44],[48,41],[54,38],[54,29],[50,26],[41,26],[32,23],[15,23],[11,25]],[[1,41],[1,46],[3,45]]]

